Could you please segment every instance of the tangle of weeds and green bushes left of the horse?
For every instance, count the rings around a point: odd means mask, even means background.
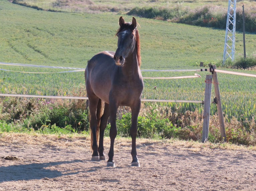
[[[22,128],[38,130],[51,125],[65,128],[70,125],[76,132],[89,129],[89,115],[81,100],[59,102],[55,99],[4,97],[0,118],[8,123],[23,124]]]

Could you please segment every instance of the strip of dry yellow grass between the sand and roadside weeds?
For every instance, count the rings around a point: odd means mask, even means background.
[[[109,144],[110,138],[105,137],[104,142]],[[256,151],[255,146],[243,146],[230,143],[202,143],[198,141],[184,141],[179,139],[144,139],[137,138],[137,147],[147,147],[149,145],[171,146],[174,148],[200,152],[202,150],[223,149],[223,150],[250,150]],[[47,147],[76,147],[90,149],[90,136],[81,134],[56,135],[56,134],[38,134],[38,133],[1,133],[0,146],[16,144],[22,145],[46,145]],[[115,145],[131,146],[131,138],[117,137]]]

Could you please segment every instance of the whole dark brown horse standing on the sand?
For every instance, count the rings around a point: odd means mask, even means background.
[[[131,166],[140,166],[136,151],[137,120],[144,87],[140,65],[140,40],[136,19],[125,22],[119,18],[116,52],[103,51],[88,61],[85,69],[89,99],[92,161],[106,160],[104,131],[110,116],[110,149],[107,166],[115,167],[114,141],[117,135],[116,115],[119,106],[131,108]],[[103,106],[105,103],[105,106]],[[102,110],[104,111],[102,113]],[[99,143],[99,145],[98,145]]]

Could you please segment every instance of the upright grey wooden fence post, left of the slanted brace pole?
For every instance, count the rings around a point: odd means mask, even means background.
[[[212,75],[206,75],[202,142],[206,142],[208,140],[208,134],[209,134],[212,80],[213,80]]]

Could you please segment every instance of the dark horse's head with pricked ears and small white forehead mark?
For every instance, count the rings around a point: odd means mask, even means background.
[[[120,28],[116,33],[118,42],[114,60],[117,66],[123,66],[125,58],[134,52],[139,34],[137,31],[136,19],[134,17],[132,18],[131,23],[126,23],[123,17],[120,17],[119,26]]]

